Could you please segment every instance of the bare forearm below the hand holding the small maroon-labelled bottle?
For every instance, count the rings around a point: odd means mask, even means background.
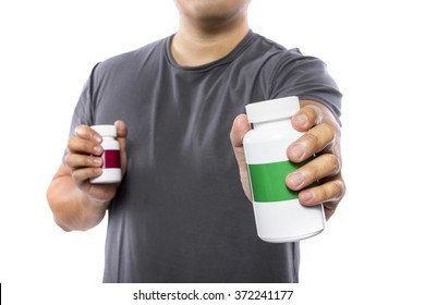
[[[56,176],[48,191],[47,200],[57,224],[64,231],[86,231],[96,227],[108,207],[84,194],[70,175]]]

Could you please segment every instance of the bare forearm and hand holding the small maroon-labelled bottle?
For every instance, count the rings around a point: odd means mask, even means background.
[[[121,146],[121,164],[126,167],[126,126],[116,122]],[[65,231],[88,230],[105,217],[119,184],[90,184],[89,179],[101,173],[101,146],[99,135],[90,127],[80,125],[68,143],[65,157],[47,191],[47,200],[54,221]]]

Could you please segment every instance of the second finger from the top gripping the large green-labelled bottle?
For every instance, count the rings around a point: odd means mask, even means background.
[[[288,147],[288,158],[296,163],[302,162],[329,146],[333,142],[333,129],[326,123],[320,123],[308,130]]]

